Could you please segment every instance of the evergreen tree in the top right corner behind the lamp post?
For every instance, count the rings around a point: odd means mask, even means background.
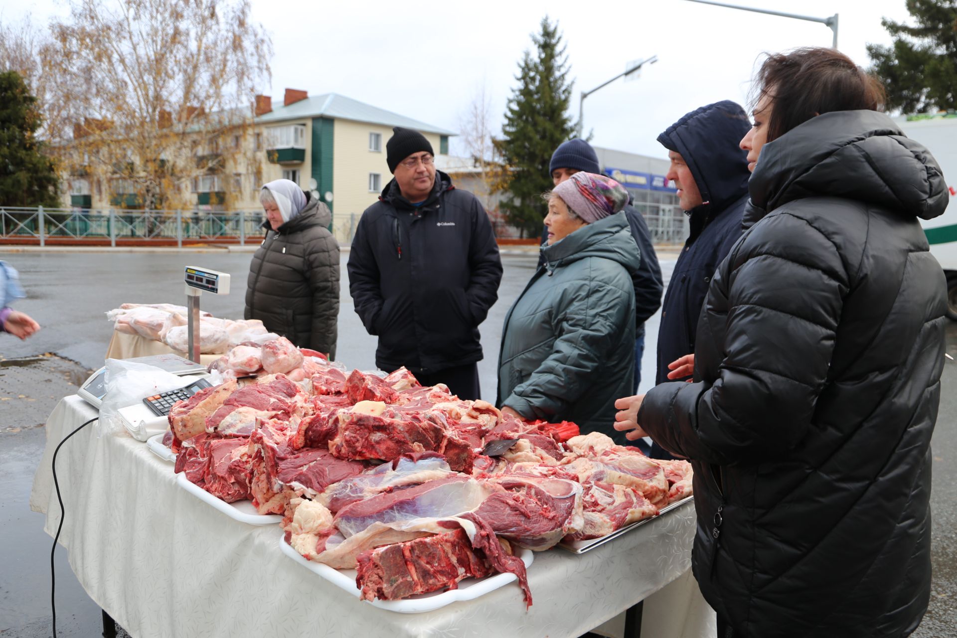
[[[907,0],[916,25],[881,20],[889,47],[869,44],[871,72],[887,91],[887,106],[904,113],[957,108],[957,3]]]

